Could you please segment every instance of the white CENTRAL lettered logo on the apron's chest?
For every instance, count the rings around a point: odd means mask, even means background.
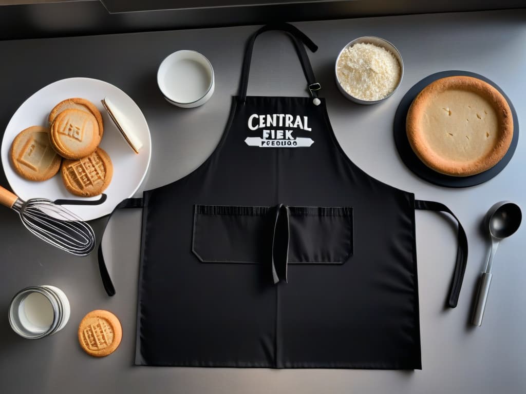
[[[292,116],[288,113],[253,113],[248,118],[248,128],[252,131],[262,129],[262,137],[247,137],[245,143],[250,147],[259,148],[308,148],[314,143],[312,139],[292,135],[295,131],[293,129],[312,131],[308,120],[306,116]]]

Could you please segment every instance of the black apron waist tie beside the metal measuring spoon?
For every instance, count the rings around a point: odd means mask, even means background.
[[[468,237],[464,231],[464,227],[458,220],[458,217],[444,204],[436,201],[426,200],[414,200],[414,208],[429,211],[447,212],[458,223],[457,233],[457,261],[455,262],[455,268],[453,271],[453,278],[451,281],[451,289],[449,291],[448,306],[454,308],[458,304],[460,289],[462,287],[462,281],[464,280],[464,272],[466,272],[466,266],[468,264]]]

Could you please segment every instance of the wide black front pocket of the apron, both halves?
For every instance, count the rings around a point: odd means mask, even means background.
[[[265,263],[288,227],[289,264],[343,264],[353,253],[352,207],[195,205],[192,252],[203,263]],[[288,226],[287,226],[288,224]]]

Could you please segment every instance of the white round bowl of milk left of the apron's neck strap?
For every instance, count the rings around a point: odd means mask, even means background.
[[[214,69],[199,52],[178,50],[160,64],[157,85],[169,103],[182,108],[199,107],[214,94]]]

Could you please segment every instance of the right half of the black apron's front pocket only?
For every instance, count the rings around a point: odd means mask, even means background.
[[[289,264],[343,264],[352,255],[352,207],[289,211]]]

